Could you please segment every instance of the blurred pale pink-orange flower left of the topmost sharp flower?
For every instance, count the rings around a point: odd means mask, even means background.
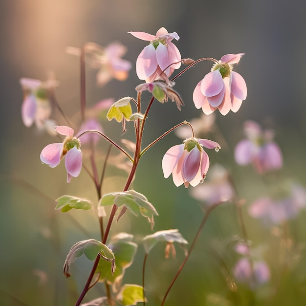
[[[84,45],[86,60],[92,68],[98,68],[97,84],[105,85],[111,79],[125,81],[129,76],[131,62],[122,59],[127,52],[126,46],[113,42],[106,47],[99,44],[87,43]],[[73,55],[81,55],[81,49],[67,47],[66,52]]]

